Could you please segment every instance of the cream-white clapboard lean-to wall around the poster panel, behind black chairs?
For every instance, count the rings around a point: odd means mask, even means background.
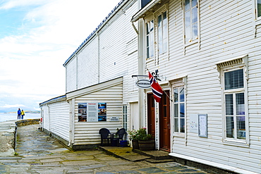
[[[122,82],[113,87],[102,89],[91,94],[75,98],[75,125],[74,125],[74,145],[99,144],[99,129],[108,128],[112,133],[117,128],[122,128],[122,105],[123,105],[123,85]],[[107,121],[101,122],[78,122],[78,103],[104,102],[107,103]],[[110,122],[111,116],[119,117],[119,122]]]

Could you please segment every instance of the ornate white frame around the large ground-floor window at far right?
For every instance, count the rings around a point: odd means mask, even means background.
[[[219,71],[219,80],[221,83],[221,108],[222,108],[222,142],[227,145],[249,147],[249,121],[248,121],[248,55],[239,56],[237,58],[231,58],[227,61],[221,61],[216,63],[216,68]],[[243,69],[243,88],[237,89],[225,89],[224,84],[224,73]],[[227,138],[226,137],[226,94],[236,94],[244,92],[244,104],[245,104],[245,139],[237,139],[237,137]],[[235,104],[235,102],[233,103]],[[236,107],[233,105],[233,107]],[[233,110],[235,111],[235,110]],[[233,114],[233,119],[235,120],[236,114]],[[235,120],[236,121],[236,120]],[[233,124],[236,125],[236,124]],[[236,133],[234,133],[236,135]]]

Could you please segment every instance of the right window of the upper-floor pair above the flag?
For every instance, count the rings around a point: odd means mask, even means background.
[[[167,51],[168,44],[168,22],[166,18],[166,11],[158,16],[157,30],[158,30],[158,51],[159,54],[162,54]]]

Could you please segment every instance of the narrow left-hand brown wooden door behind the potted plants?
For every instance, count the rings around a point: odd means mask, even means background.
[[[147,132],[155,137],[155,104],[153,94],[147,94]]]

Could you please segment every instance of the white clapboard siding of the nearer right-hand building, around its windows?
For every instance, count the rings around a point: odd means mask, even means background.
[[[191,133],[187,122],[186,139],[174,136],[172,152],[260,173],[257,163],[260,163],[261,27],[257,26],[254,37],[252,3],[200,1],[200,44],[184,47],[181,1],[169,1],[169,58],[159,55],[159,63],[157,58],[149,60],[146,67],[159,69],[166,81],[186,76],[187,120],[191,114],[208,116],[208,137]],[[250,146],[237,147],[222,142],[221,84],[216,63],[246,54]]]

